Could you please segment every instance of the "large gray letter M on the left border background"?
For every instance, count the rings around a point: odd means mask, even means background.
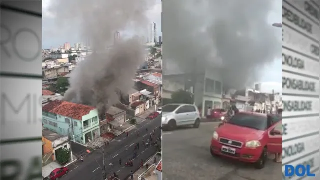
[[[17,101],[17,98],[13,98],[15,101],[15,104]],[[23,109],[23,107],[26,106],[26,114],[20,114],[19,112]],[[9,107],[13,113],[9,113],[8,111]],[[1,94],[1,124],[5,124],[7,118],[12,119],[15,116],[15,118],[20,118],[16,120],[21,120],[25,122],[25,118],[27,122],[31,122],[31,95],[27,94],[24,99],[22,99],[22,102],[15,107],[13,105],[13,102],[8,98],[8,96],[5,93]],[[13,119],[12,119],[13,120]]]

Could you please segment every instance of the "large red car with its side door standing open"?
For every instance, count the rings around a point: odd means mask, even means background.
[[[210,151],[213,156],[253,163],[261,169],[268,153],[282,153],[282,118],[239,112],[214,131]]]

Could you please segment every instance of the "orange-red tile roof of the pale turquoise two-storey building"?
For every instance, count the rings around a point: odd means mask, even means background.
[[[94,109],[95,107],[62,100],[54,100],[42,107],[43,111],[63,115],[76,120],[82,120],[82,116],[90,113],[90,111]]]

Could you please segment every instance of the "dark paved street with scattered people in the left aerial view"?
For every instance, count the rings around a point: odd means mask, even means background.
[[[159,127],[161,125],[160,117],[154,120],[145,120],[140,124],[136,125],[133,130],[129,131],[129,136],[126,137],[126,134],[118,136],[115,140],[110,142],[110,145],[105,149],[105,162],[107,164],[107,174],[110,175],[113,172],[116,172],[119,175],[119,178],[125,179],[129,176],[130,170],[133,172],[139,168],[141,159],[145,161],[150,156],[154,155],[156,149],[154,146],[144,148],[142,145],[142,140],[149,138],[149,134],[154,127]],[[148,132],[146,132],[148,128]],[[140,132],[140,135],[137,136],[137,131]],[[156,129],[156,137],[161,134],[159,128]],[[137,158],[134,159],[133,167],[124,167],[126,161],[129,158],[132,158],[134,151],[134,143],[140,143],[140,149],[137,150]],[[128,149],[128,150],[126,150]],[[122,159],[122,164],[119,165],[118,159]],[[108,164],[113,163],[113,166]],[[84,162],[77,161],[69,166],[69,173],[62,177],[62,180],[66,179],[79,179],[79,180],[102,180],[102,152],[100,150],[94,150],[91,154],[84,157]]]

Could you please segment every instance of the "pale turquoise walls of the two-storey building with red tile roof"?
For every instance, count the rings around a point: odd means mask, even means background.
[[[70,117],[42,111],[42,124],[43,127],[58,134],[70,135],[73,141],[82,144],[100,135],[97,109],[91,110],[89,114],[82,116],[82,119],[72,119]]]

